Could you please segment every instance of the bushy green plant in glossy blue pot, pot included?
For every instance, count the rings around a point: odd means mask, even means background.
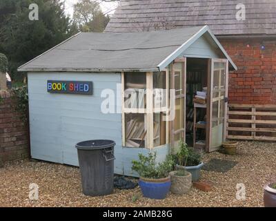
[[[139,160],[132,161],[132,170],[136,171],[139,178],[139,186],[145,198],[162,200],[170,191],[170,171],[174,161],[168,155],[162,163],[156,164],[156,152],[148,153],[148,156],[139,154]]]

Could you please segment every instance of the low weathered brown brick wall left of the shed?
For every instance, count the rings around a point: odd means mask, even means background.
[[[10,93],[0,91],[0,164],[29,156],[28,127],[14,111]]]

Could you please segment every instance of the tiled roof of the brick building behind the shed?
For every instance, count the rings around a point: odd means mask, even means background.
[[[237,21],[237,4],[246,20]],[[121,0],[106,32],[208,25],[215,35],[276,35],[275,0]]]

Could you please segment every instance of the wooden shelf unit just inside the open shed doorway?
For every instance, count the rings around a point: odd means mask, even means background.
[[[205,140],[204,141],[197,141],[197,129],[204,129],[206,130],[207,124],[199,124],[197,122],[197,109],[198,108],[207,108],[206,104],[197,104],[194,103],[194,121],[193,121],[193,146],[194,148],[203,149],[206,148],[206,133],[205,133]]]

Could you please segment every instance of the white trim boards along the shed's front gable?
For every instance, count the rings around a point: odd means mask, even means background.
[[[175,50],[174,52],[172,52],[172,54],[170,54],[168,57],[166,57],[166,59],[164,59],[164,61],[162,61],[157,66],[159,68],[159,70],[164,70],[173,60],[175,60],[177,57],[179,57],[179,55],[181,55],[181,53],[184,52],[184,50],[186,50],[188,47],[190,47],[195,41],[197,41],[197,39],[199,39],[199,37],[204,35],[204,33],[206,33],[206,32],[208,32],[210,34],[210,36],[213,38],[213,40],[215,41],[215,43],[217,44],[217,46],[219,47],[221,52],[224,53],[225,57],[229,60],[230,64],[233,66],[233,68],[235,70],[237,70],[237,66],[234,64],[233,60],[230,58],[230,56],[227,54],[227,52],[224,50],[224,48],[221,46],[221,44],[219,43],[219,41],[217,40],[215,35],[213,35],[213,33],[210,31],[210,28],[208,28],[208,26],[204,26],[203,28],[201,28],[197,33],[195,33],[195,35],[190,37],[190,39],[188,39],[188,41],[186,41],[179,48],[177,48],[177,50]]]

